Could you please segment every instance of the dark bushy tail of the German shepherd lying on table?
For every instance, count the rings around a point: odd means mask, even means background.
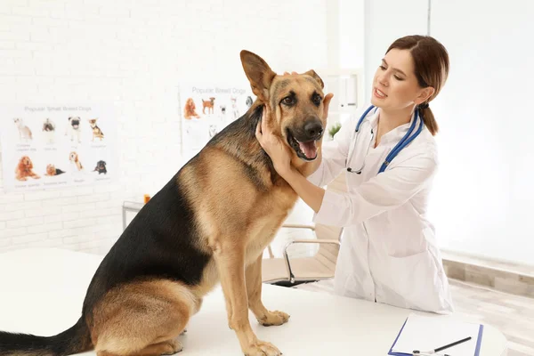
[[[56,336],[35,336],[0,331],[0,356],[67,356],[93,349],[89,328],[80,318]]]

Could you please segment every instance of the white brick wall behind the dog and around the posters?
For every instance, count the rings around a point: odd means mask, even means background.
[[[0,191],[0,252],[106,252],[121,232],[122,201],[153,195],[181,165],[180,82],[242,80],[241,49],[278,72],[326,68],[326,12],[326,0],[1,0],[1,101],[112,102],[122,177]]]

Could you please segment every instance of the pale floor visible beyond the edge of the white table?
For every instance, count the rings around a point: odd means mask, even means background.
[[[508,340],[508,356],[534,356],[534,298],[508,295],[450,279],[457,313],[498,328]],[[330,293],[332,281],[297,286]]]

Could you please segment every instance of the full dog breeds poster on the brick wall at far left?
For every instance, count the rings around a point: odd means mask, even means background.
[[[0,164],[12,172],[4,191],[117,182],[114,111],[110,104],[0,106]]]

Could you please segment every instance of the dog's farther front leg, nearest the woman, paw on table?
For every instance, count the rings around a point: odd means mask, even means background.
[[[262,258],[263,255],[259,255],[255,262],[247,267],[248,307],[263,326],[282,325],[289,320],[289,315],[279,311],[269,312],[262,303]]]

